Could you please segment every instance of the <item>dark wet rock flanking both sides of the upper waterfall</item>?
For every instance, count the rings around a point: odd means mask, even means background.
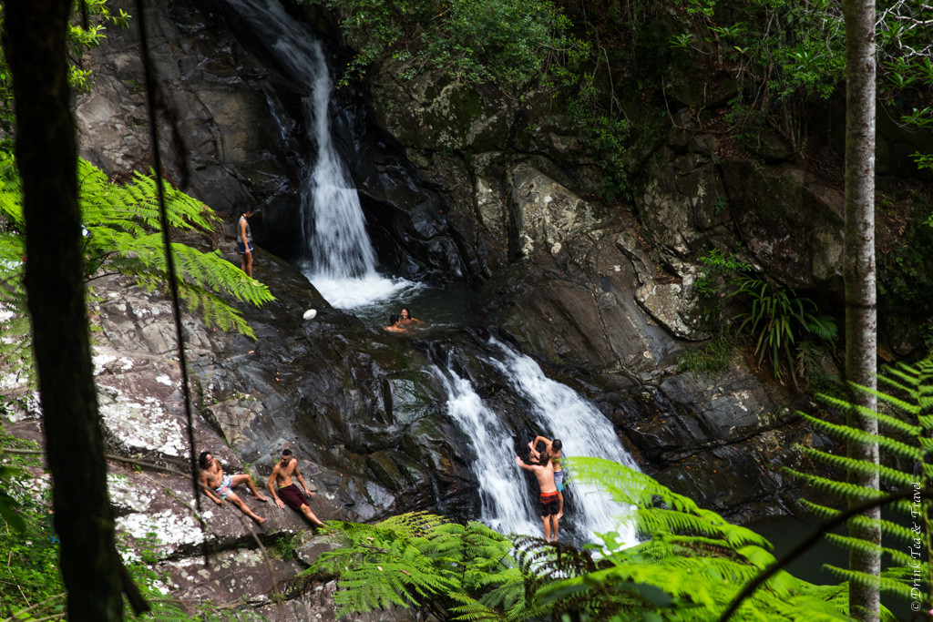
[[[135,10],[129,0],[118,7]],[[251,222],[258,245],[303,256],[301,183],[317,148],[303,113],[306,87],[224,0],[173,0],[149,7],[146,21],[166,177],[231,220],[258,208]],[[111,27],[87,62],[91,90],[75,106],[81,156],[115,178],[147,173],[153,155],[135,23]],[[369,123],[358,92],[338,94],[331,126],[383,265],[415,278],[465,277],[464,244],[448,228],[443,199]]]

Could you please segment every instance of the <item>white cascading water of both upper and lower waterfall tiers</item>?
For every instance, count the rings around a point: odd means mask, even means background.
[[[313,166],[301,187],[306,248],[302,271],[328,302],[341,309],[371,307],[401,290],[411,290],[412,283],[386,279],[376,271],[356,188],[331,140],[328,105],[333,85],[316,37],[285,12],[280,0],[227,2],[302,86],[305,126],[316,145],[309,158]],[[282,130],[287,134],[285,126]],[[496,341],[490,347],[496,354],[488,363],[501,370],[506,383],[529,404],[540,433],[564,441],[566,455],[600,456],[634,466],[611,424],[592,404],[548,379],[532,359]],[[514,433],[483,403],[468,380],[450,369],[435,367],[434,373],[446,387],[448,412],[474,444],[480,518],[500,532],[540,534],[536,498],[514,463]],[[620,531],[618,518],[626,508],[604,492],[579,483],[572,488],[574,506],[565,506],[564,525],[571,522],[571,531],[587,540],[593,539],[594,532]],[[620,536],[626,542],[635,541],[633,533]]]

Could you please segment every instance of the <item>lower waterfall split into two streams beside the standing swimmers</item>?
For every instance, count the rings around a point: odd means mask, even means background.
[[[593,456],[638,468],[622,449],[611,422],[591,402],[545,376],[530,357],[494,339],[490,347],[495,355],[487,363],[528,404],[527,415],[536,422],[538,434],[563,441],[565,458]],[[476,453],[470,467],[480,486],[480,519],[499,532],[540,535],[536,496],[534,491],[529,492],[522,470],[515,465],[515,431],[508,430],[502,417],[483,403],[469,380],[437,366],[434,373],[447,392],[448,414]],[[522,459],[527,461],[527,456]],[[591,542],[595,541],[594,533],[618,532],[620,541],[631,545],[637,541],[634,530],[620,524],[620,517],[628,512],[629,508],[617,504],[606,491],[574,481],[564,491],[560,532],[569,529]]]

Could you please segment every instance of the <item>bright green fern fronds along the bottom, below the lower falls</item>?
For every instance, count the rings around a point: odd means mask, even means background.
[[[683,495],[618,463],[578,458],[575,478],[601,484],[634,505],[644,540],[585,550],[536,537],[514,541],[489,527],[425,513],[375,525],[328,523],[341,548],[324,553],[304,579],[338,576],[341,616],[385,606],[421,607],[441,619],[670,619],[706,622],[774,562],[759,534],[732,525]],[[620,525],[620,528],[622,525]],[[621,529],[620,529],[621,531]],[[842,620],[842,587],[814,586],[780,572],[734,620]],[[844,595],[844,594],[843,594]]]

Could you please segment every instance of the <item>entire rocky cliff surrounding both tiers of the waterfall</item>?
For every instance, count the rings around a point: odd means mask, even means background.
[[[292,127],[299,90],[222,0],[149,10],[169,176],[221,212],[261,207],[259,245],[291,258],[306,164],[305,132]],[[76,102],[82,154],[116,178],[151,161],[137,45],[132,29],[110,33],[90,59],[92,90]],[[710,249],[741,248],[778,281],[830,299],[841,291],[842,193],[832,167],[817,174],[790,159],[763,163],[737,148],[715,112],[684,104],[644,148],[634,200],[606,202],[559,109],[431,73],[403,79],[401,70],[387,62],[366,90],[339,92],[337,142],[383,267],[481,283],[479,324],[396,339],[330,309],[298,271],[260,250],[256,274],[277,301],[243,310],[257,341],[186,319],[198,448],[262,484],[278,451],[292,447],[324,519],[427,508],[469,515],[470,456],[457,447],[462,432],[444,417],[446,397],[428,369],[454,345],[479,360],[481,336],[493,330],[592,399],[620,443],[675,491],[740,520],[793,511],[798,491],[777,467],[795,463],[793,443],[821,442],[793,415],[805,400],[742,352],[716,378],[675,361],[721,320],[695,286]],[[888,169],[900,157],[891,154]],[[230,238],[220,244],[235,262]],[[121,530],[158,534],[175,596],[229,603],[246,595],[278,616],[270,588],[300,563],[276,560],[273,580],[249,533],[268,543],[307,525],[247,496],[270,518],[261,528],[207,505],[199,526],[188,482],[166,471],[187,469],[167,303],[114,278],[96,289],[109,448],[162,469],[114,462]],[[304,321],[309,308],[318,314]],[[481,371],[474,380],[493,384]],[[29,404],[7,422],[11,431],[38,434]],[[521,428],[521,408],[508,398],[497,407]],[[216,561],[196,569],[205,540]],[[319,598],[293,601],[287,619],[307,619]]]

